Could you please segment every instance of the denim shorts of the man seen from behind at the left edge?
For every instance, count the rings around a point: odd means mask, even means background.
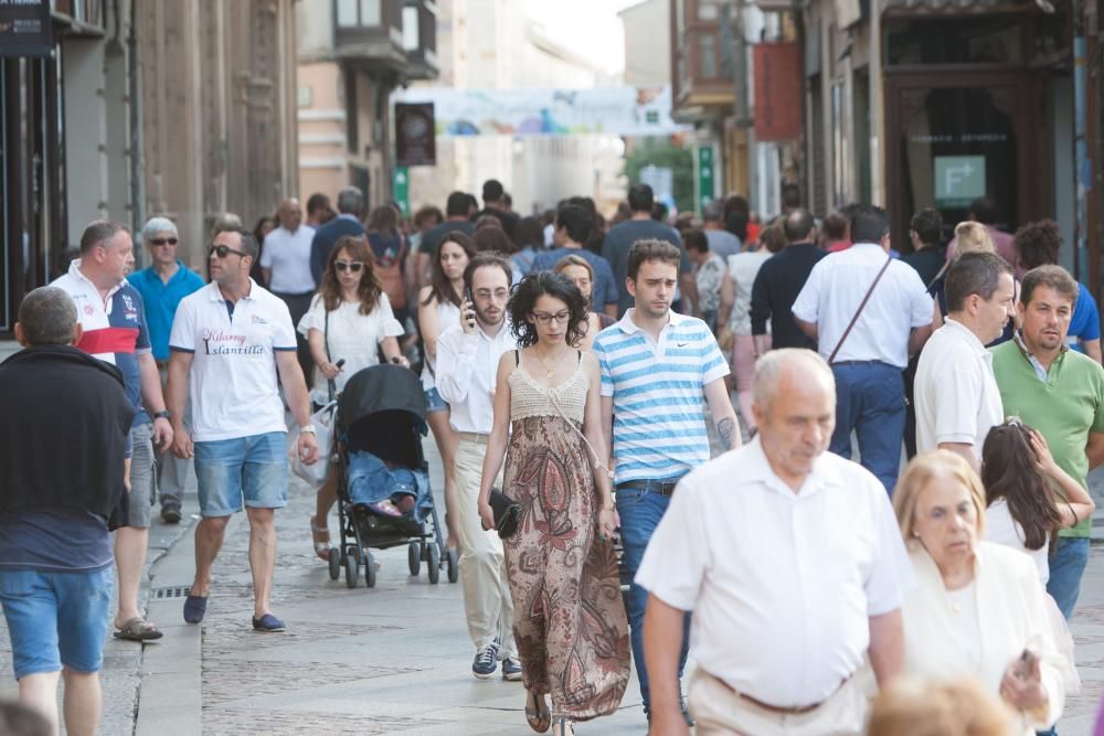
[[[81,573],[0,570],[0,605],[15,679],[40,672],[98,672],[115,566]]]

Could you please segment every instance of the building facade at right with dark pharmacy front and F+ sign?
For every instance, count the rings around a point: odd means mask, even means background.
[[[882,204],[907,249],[917,210],[935,206],[949,231],[988,196],[1006,232],[1058,221],[1062,265],[1098,291],[1098,8],[806,3],[803,168],[815,207]]]

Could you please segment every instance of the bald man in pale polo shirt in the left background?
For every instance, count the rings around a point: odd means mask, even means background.
[[[279,227],[265,236],[261,270],[269,291],[284,300],[291,312],[291,323],[298,326],[310,309],[310,299],[318,286],[310,273],[310,244],[315,239],[315,228],[302,224],[302,207],[295,198],[280,203],[279,223]],[[309,386],[314,370],[310,348],[298,331],[296,340],[299,365]]]

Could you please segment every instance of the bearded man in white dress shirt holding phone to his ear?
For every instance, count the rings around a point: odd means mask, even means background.
[[[437,391],[448,402],[448,423],[459,435],[453,467],[456,483],[456,530],[460,545],[460,584],[468,633],[476,646],[471,673],[480,680],[495,674],[521,680],[513,642],[513,599],[506,577],[502,541],[485,531],[479,519],[479,480],[487,439],[495,419],[495,376],[502,353],[517,350],[506,319],[513,271],[493,254],[480,254],[464,270],[469,298],[460,305],[460,322],[437,339]],[[475,313],[475,319],[468,317]]]

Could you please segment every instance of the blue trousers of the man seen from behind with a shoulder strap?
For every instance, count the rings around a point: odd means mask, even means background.
[[[901,369],[878,361],[837,363],[836,431],[828,449],[851,457],[851,430],[859,438],[862,467],[892,494],[901,469],[904,438],[904,382]]]

